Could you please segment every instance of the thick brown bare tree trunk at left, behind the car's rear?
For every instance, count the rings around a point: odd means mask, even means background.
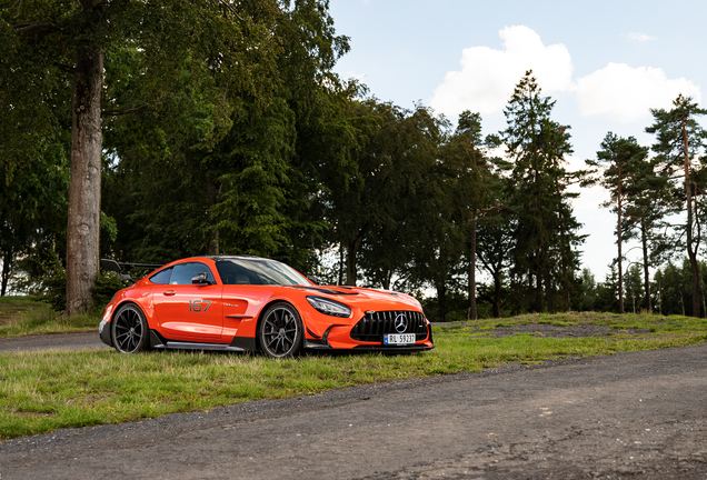
[[[96,12],[91,11],[87,14],[96,14]],[[71,99],[71,180],[67,224],[67,313],[69,316],[86,312],[92,306],[91,289],[98,276],[102,83],[102,49],[98,46],[80,48]]]

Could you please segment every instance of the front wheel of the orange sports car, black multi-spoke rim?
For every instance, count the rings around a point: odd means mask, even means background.
[[[270,306],[258,326],[260,349],[270,358],[295,357],[302,349],[302,338],[299,313],[286,302]]]

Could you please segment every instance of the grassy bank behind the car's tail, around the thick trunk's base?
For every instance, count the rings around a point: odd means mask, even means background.
[[[96,314],[62,318],[31,297],[0,297],[0,338],[96,331],[99,322]]]

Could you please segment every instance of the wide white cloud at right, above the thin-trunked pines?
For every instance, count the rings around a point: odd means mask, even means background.
[[[668,79],[663,69],[625,63],[609,63],[576,84],[584,116],[605,114],[623,123],[648,118],[651,108],[670,108],[679,93],[701,100],[699,87],[687,79]]]

